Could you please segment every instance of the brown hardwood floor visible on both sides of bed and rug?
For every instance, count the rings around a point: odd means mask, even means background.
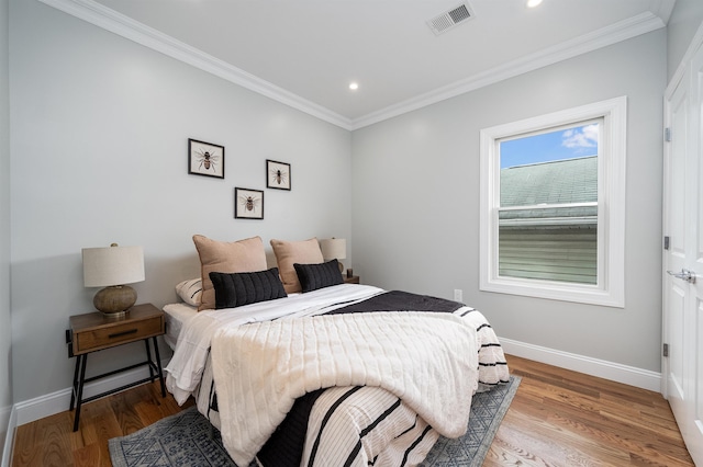
[[[507,356],[522,383],[484,466],[693,466],[657,392]],[[189,401],[185,407],[192,405]],[[12,466],[110,466],[108,440],[176,413],[158,383],[19,426]]]

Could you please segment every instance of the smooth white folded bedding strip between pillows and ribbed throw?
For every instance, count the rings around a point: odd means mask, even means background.
[[[281,317],[322,314],[333,309],[330,307],[334,304],[343,303],[338,306],[344,306],[382,292],[370,285],[338,285],[238,308],[200,311],[183,324],[178,337],[174,356],[164,368],[166,387],[179,405],[186,402],[200,383],[212,337],[223,326],[237,327]]]

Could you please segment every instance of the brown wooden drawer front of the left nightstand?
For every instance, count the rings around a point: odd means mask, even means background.
[[[130,321],[74,333],[74,354],[141,341],[164,333],[164,320],[154,317],[142,321]]]

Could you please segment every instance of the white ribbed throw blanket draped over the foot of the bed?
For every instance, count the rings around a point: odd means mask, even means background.
[[[305,392],[382,387],[440,434],[457,437],[467,430],[478,385],[476,328],[451,314],[353,314],[227,327],[214,334],[212,356],[222,438],[238,465],[248,465]]]

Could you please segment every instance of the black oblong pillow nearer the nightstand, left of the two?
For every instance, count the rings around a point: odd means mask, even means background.
[[[210,281],[215,289],[217,310],[288,296],[278,275],[278,267],[250,273],[211,272]]]

